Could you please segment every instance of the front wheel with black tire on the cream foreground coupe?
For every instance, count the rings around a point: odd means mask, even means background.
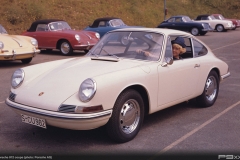
[[[120,143],[132,140],[139,132],[144,118],[144,102],[132,89],[119,95],[106,129],[109,137]]]

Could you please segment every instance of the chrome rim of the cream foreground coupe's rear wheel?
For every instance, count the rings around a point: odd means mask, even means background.
[[[213,101],[217,94],[217,80],[210,76],[205,84],[205,95],[208,101]]]

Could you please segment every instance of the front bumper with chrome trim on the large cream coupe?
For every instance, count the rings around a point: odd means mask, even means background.
[[[104,110],[96,113],[60,113],[43,110],[19,104],[6,99],[5,103],[18,114],[41,118],[47,125],[73,130],[89,130],[105,125],[111,117],[112,110]]]

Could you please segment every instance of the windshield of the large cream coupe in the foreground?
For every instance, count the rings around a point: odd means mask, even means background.
[[[87,56],[157,61],[162,51],[162,42],[163,35],[158,33],[115,31],[104,35]]]

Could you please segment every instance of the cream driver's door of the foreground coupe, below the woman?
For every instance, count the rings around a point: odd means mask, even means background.
[[[174,60],[172,65],[158,66],[158,107],[165,108],[188,100],[196,93],[200,73],[200,62],[193,57],[191,38],[184,37],[187,52],[192,55],[180,60]],[[168,38],[165,59],[171,56],[171,39]]]

